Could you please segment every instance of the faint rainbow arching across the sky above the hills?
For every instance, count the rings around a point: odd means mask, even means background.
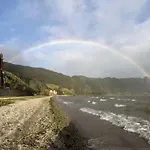
[[[132,58],[130,58],[129,56],[123,54],[120,51],[114,50],[110,47],[108,47],[105,44],[99,43],[99,42],[94,42],[94,41],[86,41],[86,40],[55,40],[55,41],[48,41],[48,42],[44,42],[41,43],[39,45],[36,46],[32,46],[28,49],[23,50],[23,52],[20,52],[19,54],[17,54],[14,58],[12,58],[10,60],[10,62],[13,62],[14,60],[16,60],[20,55],[22,55],[22,53],[28,53],[28,52],[32,52],[34,50],[38,50],[41,49],[43,47],[46,46],[52,46],[52,45],[60,45],[60,44],[86,44],[86,45],[95,45],[95,46],[99,46],[101,48],[104,48],[106,50],[109,50],[113,53],[119,54],[121,57],[123,57],[124,59],[128,60],[130,63],[132,63],[134,66],[137,67],[137,69],[139,69],[145,76],[147,76],[148,78],[150,78],[150,74],[147,73],[142,67],[140,67],[140,65],[138,65]]]

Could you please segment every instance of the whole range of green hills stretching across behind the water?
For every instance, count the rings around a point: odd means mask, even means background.
[[[88,78],[85,76],[67,76],[43,68],[4,63],[4,69],[19,77],[31,89],[38,93],[48,93],[50,89],[60,94],[149,94],[148,78]]]

